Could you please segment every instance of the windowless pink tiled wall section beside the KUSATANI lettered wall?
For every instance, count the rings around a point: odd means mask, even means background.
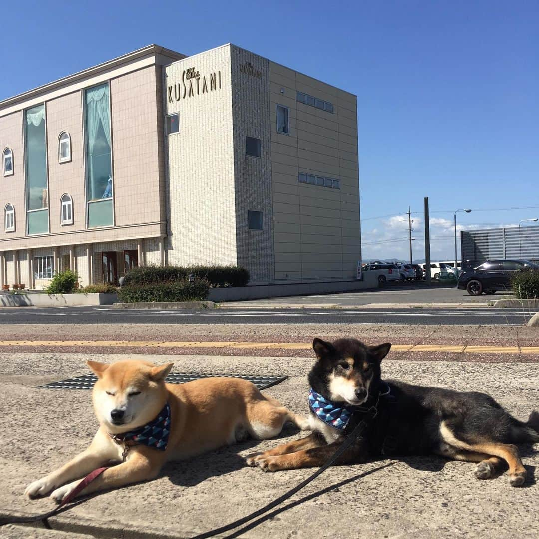
[[[155,66],[110,81],[116,225],[164,221]]]

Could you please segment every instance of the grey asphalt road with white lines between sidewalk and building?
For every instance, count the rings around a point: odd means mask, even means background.
[[[522,326],[534,312],[467,307],[450,309],[215,309],[119,310],[108,306],[9,308],[0,324],[450,324]]]

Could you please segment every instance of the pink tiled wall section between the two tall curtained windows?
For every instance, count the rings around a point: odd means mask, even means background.
[[[71,161],[60,163],[58,137],[71,136]],[[51,233],[73,232],[86,228],[86,192],[82,96],[80,92],[47,101],[47,152],[49,161],[49,218]],[[60,199],[65,193],[73,199],[73,224],[60,222]]]

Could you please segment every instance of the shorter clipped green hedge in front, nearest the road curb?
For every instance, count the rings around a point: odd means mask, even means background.
[[[118,299],[124,303],[152,301],[205,301],[210,292],[208,281],[196,280],[128,285],[120,288]]]

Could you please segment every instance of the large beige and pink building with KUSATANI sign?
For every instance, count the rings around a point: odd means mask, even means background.
[[[6,99],[0,151],[3,285],[165,263],[355,279],[356,96],[234,45],[151,45]]]

